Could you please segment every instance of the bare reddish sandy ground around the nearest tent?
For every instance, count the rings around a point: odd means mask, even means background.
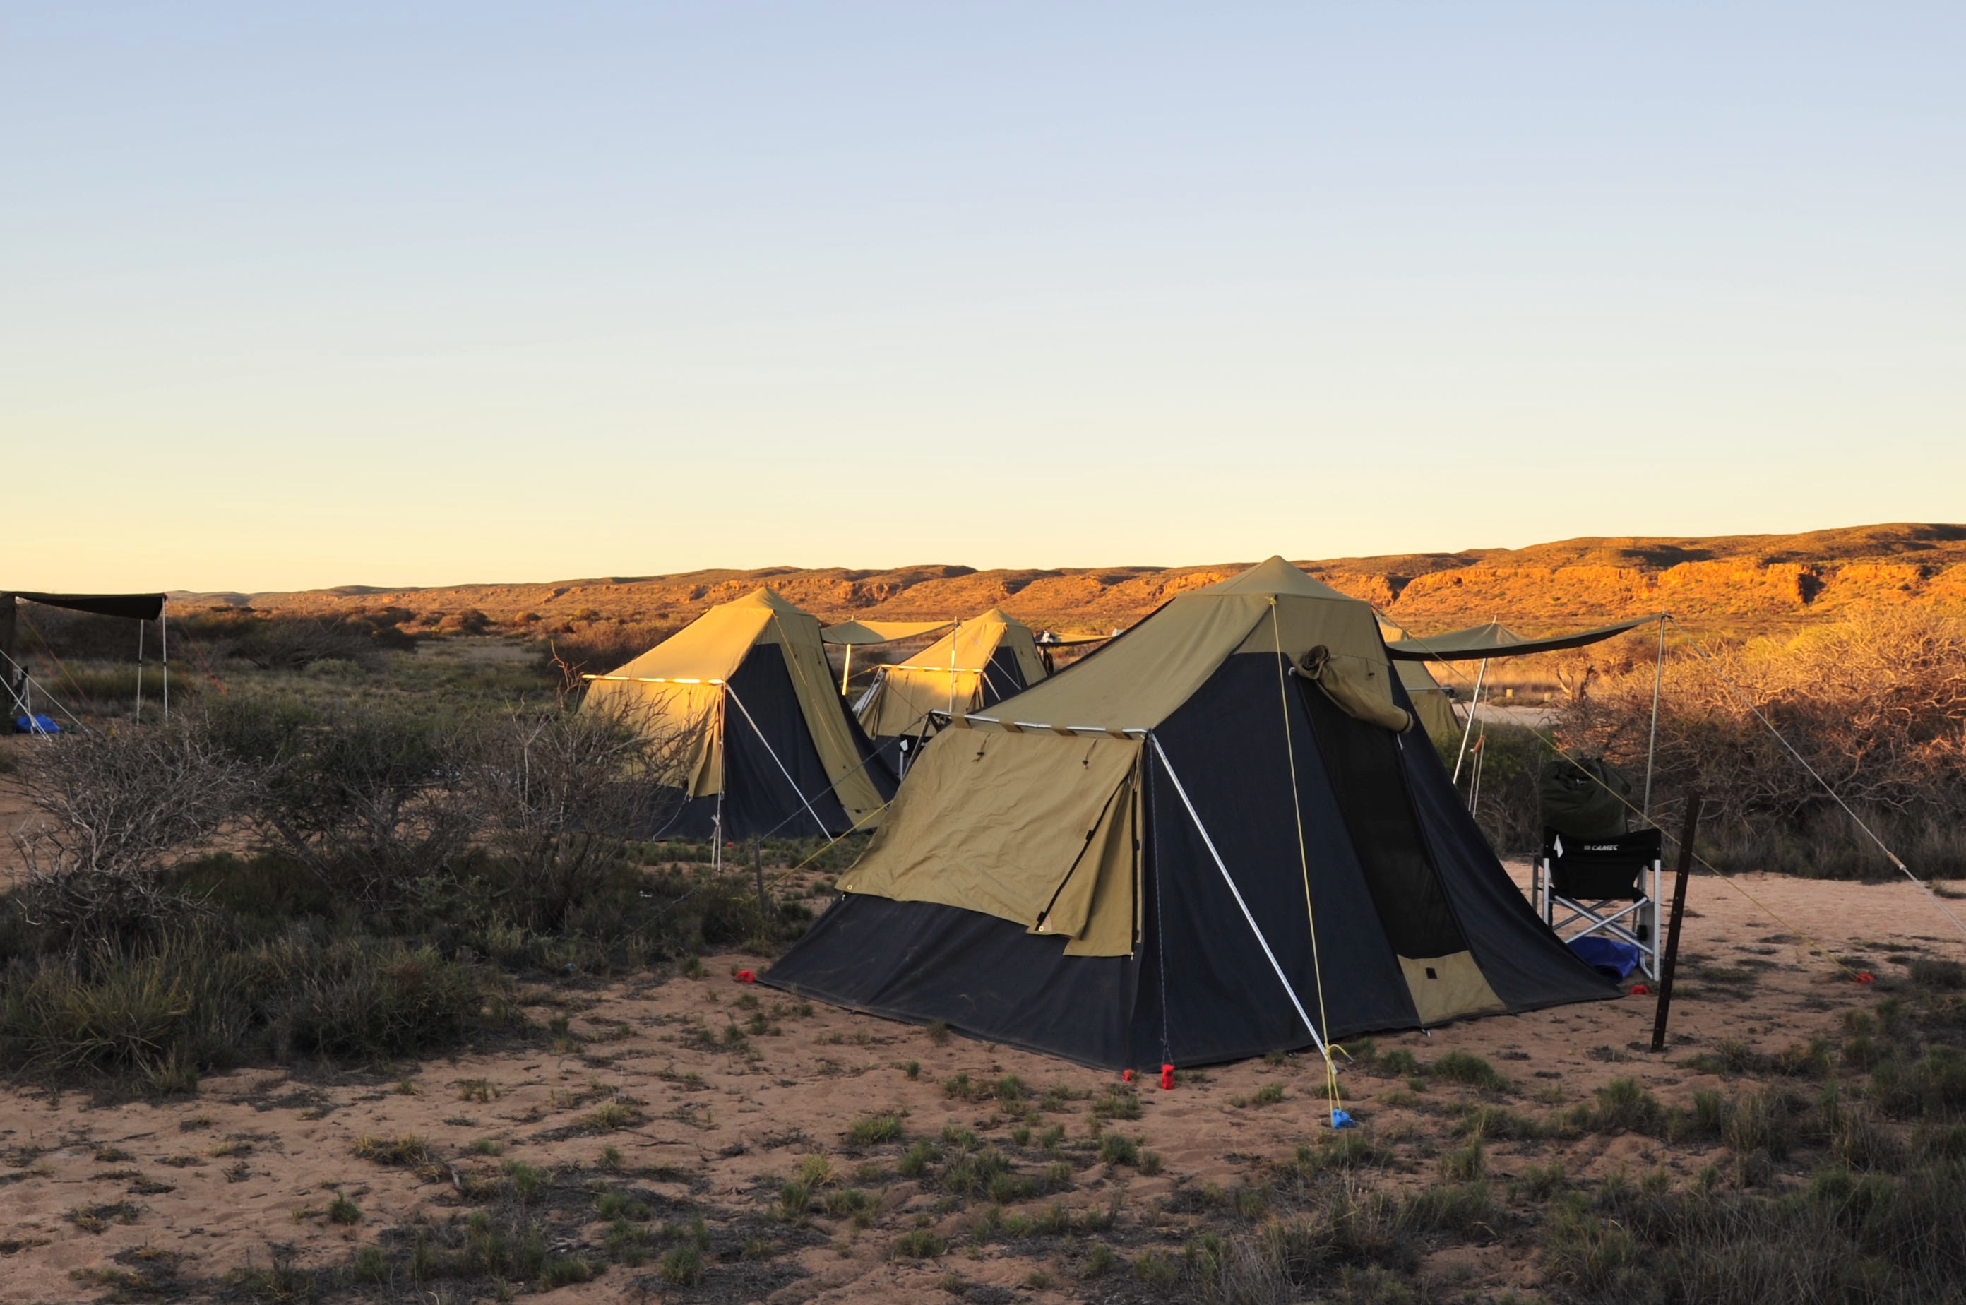
[[[1516,873],[1522,875],[1522,867]],[[1482,1055],[1516,1081],[1514,1101],[1532,1112],[1587,1101],[1594,1087],[1618,1075],[1634,1075],[1661,1101],[1685,1105],[1695,1091],[1722,1085],[1677,1063],[1685,1051],[1720,1040],[1777,1051],[1832,1034],[1846,1008],[1878,1000],[1876,987],[1852,983],[1801,945],[1797,934],[1815,936],[1832,951],[1856,957],[1860,969],[1885,977],[1893,951],[1903,959],[1921,951],[1966,955],[1950,924],[1909,882],[1775,877],[1742,877],[1740,882],[1783,922],[1714,879],[1693,882],[1675,1053],[1653,1057],[1642,1050],[1653,1014],[1646,998],[1471,1020],[1431,1036],[1386,1036],[1378,1046],[1406,1048],[1421,1061],[1449,1050]],[[1103,1091],[1113,1081],[1113,1075],[963,1038],[938,1044],[926,1030],[826,1006],[800,1014],[784,994],[737,983],[731,971],[739,965],[759,967],[759,961],[712,957],[702,979],[541,989],[533,1018],[545,1022],[556,1014],[545,1004],[556,1000],[584,1040],[582,1048],[558,1055],[537,1050],[464,1053],[364,1073],[246,1069],[210,1077],[191,1097],[165,1101],[98,1103],[73,1093],[0,1091],[0,1301],[94,1295],[88,1276],[114,1270],[118,1254],[122,1264],[145,1254],[177,1258],[187,1281],[212,1281],[248,1264],[265,1266],[273,1246],[291,1248],[299,1264],[342,1264],[383,1228],[460,1215],[466,1207],[458,1181],[499,1163],[470,1154],[468,1148],[486,1138],[503,1146],[503,1160],[560,1173],[592,1173],[602,1148],[611,1144],[625,1171],[657,1175],[637,1187],[676,1211],[704,1213],[712,1222],[765,1226],[779,1179],[792,1173],[800,1158],[826,1154],[845,1173],[865,1160],[845,1142],[843,1130],[873,1112],[904,1112],[908,1136],[934,1136],[952,1122],[975,1128],[1016,1154],[1007,1140],[1011,1120],[987,1103],[948,1097],[940,1083],[950,1075],[1014,1073],[1038,1089],[1089,1091]],[[688,1040],[696,1024],[718,1032],[731,1018],[749,1018],[751,1008],[737,1004],[747,994],[759,1000],[775,1028],[751,1038],[757,1057]],[[920,1061],[914,1081],[898,1067],[910,1059]],[[1123,1250],[1156,1238],[1178,1246],[1180,1219],[1166,1213],[1180,1209],[1172,1197],[1201,1183],[1229,1189],[1256,1181],[1266,1163],[1288,1160],[1300,1142],[1315,1140],[1325,1128],[1311,1059],[1223,1065],[1203,1077],[1174,1091],[1142,1085],[1142,1118],[1119,1124],[1166,1158],[1162,1173],[1146,1177],[1130,1167],[1085,1163],[1075,1187],[1064,1193],[1073,1209],[1121,1201],[1125,1213],[1111,1240]],[[1404,1146],[1425,1146],[1429,1130],[1441,1134],[1439,1110],[1427,1110],[1429,1103],[1408,1108],[1382,1101],[1404,1089],[1404,1081],[1364,1073],[1347,1073],[1345,1081],[1351,1108],[1366,1130],[1402,1138]],[[1272,1083],[1284,1089],[1282,1103],[1231,1103]],[[611,1097],[645,1103],[639,1122],[607,1134],[578,1126],[596,1103]],[[1068,1138],[1087,1134],[1087,1105],[1075,1101],[1056,1116]],[[429,1140],[438,1163],[419,1175],[356,1156],[362,1136],[401,1134]],[[1496,1144],[1490,1171],[1502,1177],[1518,1171],[1528,1163],[1524,1148],[1535,1146],[1547,1144]],[[889,1163],[893,1152],[887,1152]],[[1044,1160],[1034,1150],[1024,1158]],[[1642,1136],[1590,1136],[1565,1152],[1573,1175],[1653,1163],[1691,1173],[1708,1160]],[[1431,1165],[1417,1165],[1404,1181],[1429,1177]],[[936,1195],[893,1173],[875,1189],[879,1213],[871,1228],[855,1232],[845,1219],[814,1215],[808,1228],[790,1236],[788,1250],[759,1264],[714,1264],[694,1291],[672,1297],[649,1266],[617,1266],[592,1283],[552,1295],[566,1301],[952,1299],[936,1283],[955,1272],[969,1283],[997,1285],[1001,1293],[993,1299],[1012,1299],[1012,1293],[1032,1301],[1079,1299],[1075,1291],[1113,1299],[1109,1287],[1079,1283],[1056,1248],[1036,1254],[1020,1244],[993,1244],[971,1252],[961,1238],[981,1205],[942,1209]],[[360,1205],[360,1222],[328,1222],[324,1211],[336,1191]],[[1050,1197],[1040,1199],[1032,1209],[1048,1203]],[[100,1213],[88,1219],[88,1211]],[[895,1238],[918,1213],[950,1236],[946,1256],[893,1256]],[[1054,1285],[1026,1285],[1034,1270],[1052,1274]],[[1500,1246],[1492,1256],[1482,1248],[1457,1248],[1427,1272],[1461,1289],[1535,1287],[1533,1270]],[[389,1299],[411,1299],[407,1285],[405,1295]]]

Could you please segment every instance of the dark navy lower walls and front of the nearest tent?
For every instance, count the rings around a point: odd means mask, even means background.
[[[1321,735],[1321,690],[1292,676],[1280,694],[1278,668],[1266,652],[1229,656],[1154,737],[1319,1032],[1417,1026],[1394,939],[1469,949],[1512,1012],[1616,994],[1530,910],[1423,737],[1349,717],[1372,733],[1345,741],[1325,721]],[[1107,1069],[1311,1046],[1152,743],[1142,768],[1130,957],[1066,957],[1062,939],[1009,920],[847,894],[765,981]]]

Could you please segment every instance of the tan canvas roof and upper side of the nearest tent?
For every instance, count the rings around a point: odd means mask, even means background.
[[[1170,599],[1066,674],[991,711],[957,711],[971,735],[957,731],[922,753],[887,829],[839,888],[967,906],[1064,934],[1066,955],[1132,951],[1132,806],[1144,735],[1237,652],[1282,652],[1298,664],[1313,649],[1325,652],[1319,684],[1347,713],[1408,723],[1394,706],[1372,607],[1270,558]],[[1048,910],[1054,898],[1070,910]]]

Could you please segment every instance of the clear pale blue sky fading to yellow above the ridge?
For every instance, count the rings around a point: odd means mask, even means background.
[[[1966,519],[1958,4],[12,4],[20,588]]]

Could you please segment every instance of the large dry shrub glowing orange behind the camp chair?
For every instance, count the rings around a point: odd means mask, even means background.
[[[1708,649],[1708,656],[1681,647],[1667,658],[1653,812],[1699,786],[1708,839],[1740,869],[1891,873],[1809,774],[1815,768],[1927,875],[1966,867],[1958,835],[1966,818],[1966,621],[1891,607],[1787,641]],[[1594,682],[1565,709],[1563,745],[1642,774],[1651,680],[1651,666],[1634,666]]]

